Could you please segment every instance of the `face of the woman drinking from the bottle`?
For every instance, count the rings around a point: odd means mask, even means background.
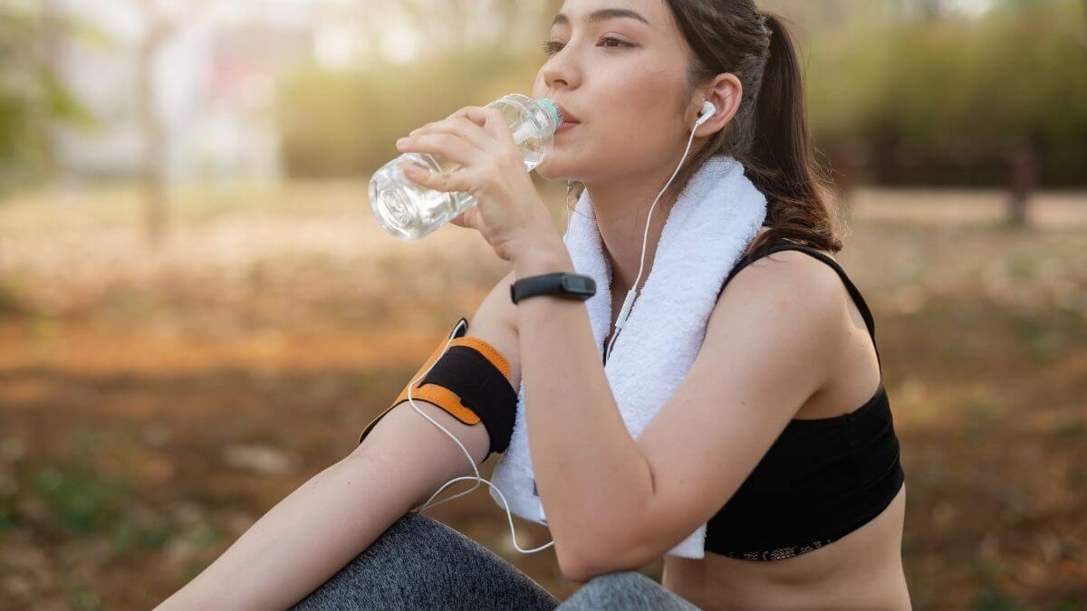
[[[580,123],[554,135],[540,176],[607,183],[674,164],[690,134],[679,100],[688,46],[664,0],[567,0],[546,43],[533,98]]]

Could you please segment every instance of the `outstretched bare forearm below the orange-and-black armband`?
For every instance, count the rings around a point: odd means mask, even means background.
[[[353,453],[311,477],[159,609],[287,609],[414,507],[392,465]]]

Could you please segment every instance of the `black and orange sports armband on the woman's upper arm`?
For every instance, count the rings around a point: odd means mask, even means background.
[[[464,325],[458,326],[460,321],[464,321]],[[397,400],[366,425],[359,436],[360,444],[377,421],[408,400],[408,387],[412,381],[434,363],[426,376],[412,387],[412,399],[434,403],[464,424],[483,422],[490,437],[487,457],[505,451],[513,435],[517,409],[517,392],[510,382],[510,365],[490,344],[478,337],[466,337],[467,320],[462,317],[460,321],[454,325],[455,335],[452,335],[445,354],[441,351],[446,348],[446,340],[442,340],[411,376]]]

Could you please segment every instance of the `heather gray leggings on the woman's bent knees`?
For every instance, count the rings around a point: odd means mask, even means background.
[[[291,607],[310,609],[698,611],[637,571],[598,575],[560,601],[495,552],[413,511]]]

